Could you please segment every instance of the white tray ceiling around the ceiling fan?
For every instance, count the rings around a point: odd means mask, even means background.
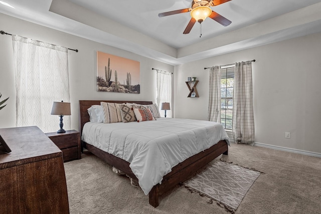
[[[201,38],[198,23],[183,34],[189,13],[157,16],[190,8],[192,0],[1,2],[14,8],[0,4],[0,13],[171,65],[321,32],[321,0],[232,0],[212,7],[232,24],[206,19]]]

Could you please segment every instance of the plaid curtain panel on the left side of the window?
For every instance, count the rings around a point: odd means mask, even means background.
[[[221,67],[210,69],[208,120],[221,123]]]

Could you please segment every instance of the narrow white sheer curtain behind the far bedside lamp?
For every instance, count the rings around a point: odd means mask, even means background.
[[[166,112],[166,117],[172,117],[172,73],[166,71],[157,72],[157,97],[156,104],[162,117],[165,111],[161,110],[162,103],[170,103],[171,110]]]

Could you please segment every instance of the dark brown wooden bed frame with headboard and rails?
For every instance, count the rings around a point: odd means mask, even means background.
[[[92,105],[100,105],[100,102],[109,103],[137,103],[142,105],[152,104],[149,101],[106,101],[106,100],[79,100],[79,131],[82,133],[84,124],[89,121],[89,114],[87,109]],[[101,158],[110,165],[116,167],[117,169],[123,171],[131,178],[138,181],[137,177],[131,171],[129,167],[129,162],[116,157],[112,154],[104,152],[86,142],[81,141],[82,148],[85,147],[88,151]],[[162,184],[156,184],[149,191],[149,204],[153,207],[158,206],[158,197],[168,190],[172,189],[177,184],[184,182],[191,178],[193,174],[201,167],[205,166],[207,163],[214,160],[221,154],[228,154],[228,145],[225,140],[219,141],[212,147],[193,155],[192,157],[186,159],[185,161],[179,163],[172,168],[172,171],[165,175],[162,180]]]

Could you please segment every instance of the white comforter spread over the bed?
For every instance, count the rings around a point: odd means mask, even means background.
[[[220,140],[229,144],[219,123],[173,118],[139,123],[88,122],[81,139],[129,162],[145,195],[178,163]]]

